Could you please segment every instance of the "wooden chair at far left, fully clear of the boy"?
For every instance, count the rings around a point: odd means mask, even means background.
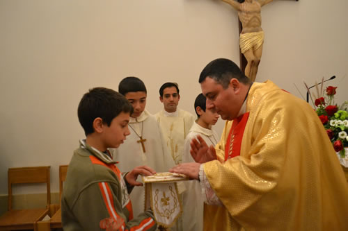
[[[51,203],[50,166],[10,168],[8,169],[8,212],[0,217],[0,230],[33,230],[35,223],[49,212]],[[47,205],[38,209],[13,209],[13,185],[38,184],[47,185]]]

